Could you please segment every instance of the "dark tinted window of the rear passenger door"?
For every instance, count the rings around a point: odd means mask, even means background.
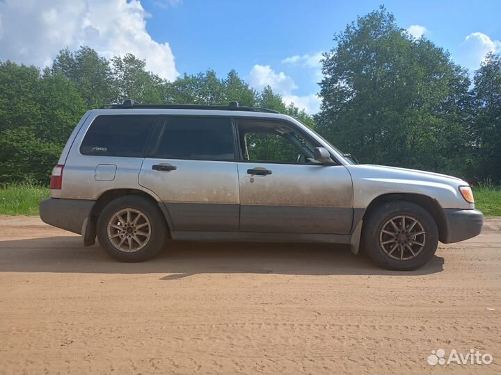
[[[225,117],[171,117],[157,158],[234,160],[232,123]]]

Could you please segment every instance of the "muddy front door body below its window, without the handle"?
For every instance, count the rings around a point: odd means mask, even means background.
[[[271,174],[248,174],[264,168]],[[238,163],[240,230],[347,234],[353,187],[343,165]]]

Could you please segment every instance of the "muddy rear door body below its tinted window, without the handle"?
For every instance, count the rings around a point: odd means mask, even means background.
[[[153,165],[176,167],[169,172]],[[175,231],[237,231],[237,163],[214,160],[146,158],[139,183],[164,202]]]

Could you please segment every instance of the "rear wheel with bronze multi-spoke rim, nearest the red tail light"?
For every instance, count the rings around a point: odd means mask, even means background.
[[[97,219],[97,238],[112,258],[120,262],[143,262],[163,249],[166,221],[155,203],[127,195],[104,207]]]

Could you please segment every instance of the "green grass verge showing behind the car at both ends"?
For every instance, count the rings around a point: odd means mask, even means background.
[[[486,216],[501,216],[501,187],[473,188],[475,207]],[[38,215],[38,203],[49,197],[49,188],[31,184],[0,185],[0,215]]]

